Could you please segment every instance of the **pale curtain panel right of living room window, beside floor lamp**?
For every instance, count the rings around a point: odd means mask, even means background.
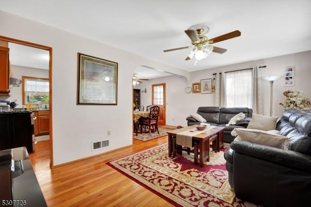
[[[252,109],[256,114],[262,114],[261,69],[254,67],[252,71]]]

